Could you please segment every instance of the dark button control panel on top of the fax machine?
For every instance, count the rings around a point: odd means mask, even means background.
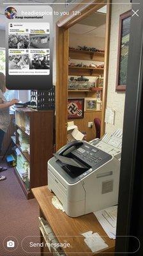
[[[99,148],[96,148],[89,143],[84,142],[79,148],[76,148],[71,152],[72,156],[87,164],[90,168],[97,165],[97,168],[103,164],[103,162],[109,161],[112,156],[103,152]]]

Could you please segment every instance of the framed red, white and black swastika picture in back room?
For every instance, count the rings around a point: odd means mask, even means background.
[[[68,119],[84,118],[84,99],[68,99]]]

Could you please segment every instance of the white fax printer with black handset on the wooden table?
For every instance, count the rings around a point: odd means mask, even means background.
[[[48,188],[71,217],[117,204],[122,132],[73,141],[48,162]]]

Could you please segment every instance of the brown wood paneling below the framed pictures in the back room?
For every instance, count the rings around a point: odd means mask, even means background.
[[[85,111],[84,118],[69,119],[68,122],[74,121],[74,124],[78,126],[80,132],[87,133],[87,141],[93,140],[96,136],[96,130],[94,125],[94,118],[102,118],[102,111]],[[88,127],[88,122],[93,122],[93,127]]]

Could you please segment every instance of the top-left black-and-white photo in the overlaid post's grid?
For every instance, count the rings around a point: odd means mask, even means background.
[[[9,49],[28,49],[29,36],[26,34],[11,34],[8,36]]]

